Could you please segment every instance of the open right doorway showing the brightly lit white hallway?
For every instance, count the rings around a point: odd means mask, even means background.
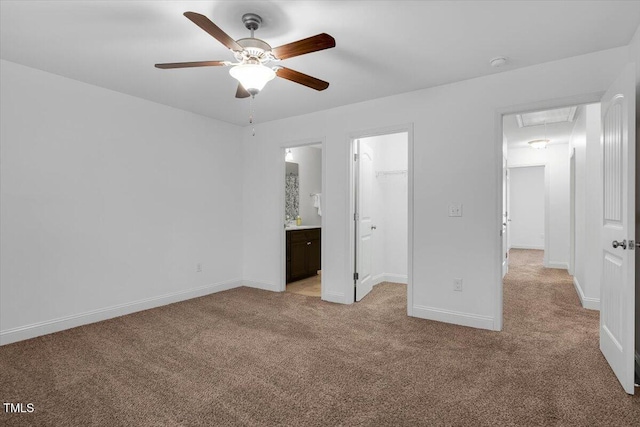
[[[600,104],[505,115],[503,134],[508,262],[564,271],[582,307],[598,310]]]

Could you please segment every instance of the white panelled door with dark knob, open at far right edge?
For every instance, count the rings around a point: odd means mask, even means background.
[[[602,98],[603,222],[600,350],[633,394],[635,321],[635,69]]]

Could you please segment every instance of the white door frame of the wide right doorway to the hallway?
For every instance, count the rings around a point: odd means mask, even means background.
[[[502,236],[500,236],[500,230],[502,229],[502,138],[503,138],[503,126],[502,120],[504,116],[516,113],[526,113],[541,110],[551,110],[554,108],[562,108],[567,105],[580,105],[580,104],[593,104],[600,102],[600,99],[604,95],[604,91],[584,93],[575,96],[547,99],[538,102],[532,102],[527,104],[511,105],[494,110],[494,177],[495,177],[495,215],[494,227],[496,230],[494,240],[494,253],[496,254],[495,266],[494,266],[494,283],[495,292],[493,295],[494,310],[493,310],[493,330],[501,331],[504,325],[503,319],[503,292],[504,286],[502,283]],[[508,151],[507,151],[508,156]],[[546,239],[546,237],[545,237]],[[546,252],[546,251],[545,251]]]

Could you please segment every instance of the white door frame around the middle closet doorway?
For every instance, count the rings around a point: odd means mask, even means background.
[[[355,173],[356,168],[353,162],[353,156],[355,154],[355,141],[357,139],[370,138],[373,136],[382,136],[389,135],[395,133],[406,133],[407,134],[407,315],[413,315],[413,224],[414,224],[414,215],[413,215],[413,200],[414,200],[414,192],[413,192],[413,123],[400,124],[395,126],[387,126],[382,128],[374,128],[367,129],[361,131],[351,132],[347,136],[347,141],[349,144],[349,154],[346,158],[347,161],[347,182],[349,183],[349,191],[347,191],[347,223],[349,224],[347,229],[348,238],[348,247],[347,253],[349,254],[349,259],[347,260],[347,277],[345,278],[345,300],[348,304],[352,304],[355,302],[355,291],[354,291],[354,279],[353,273],[355,268]]]

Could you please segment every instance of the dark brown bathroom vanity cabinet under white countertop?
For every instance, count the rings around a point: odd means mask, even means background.
[[[287,283],[315,276],[320,270],[320,229],[287,231]]]

